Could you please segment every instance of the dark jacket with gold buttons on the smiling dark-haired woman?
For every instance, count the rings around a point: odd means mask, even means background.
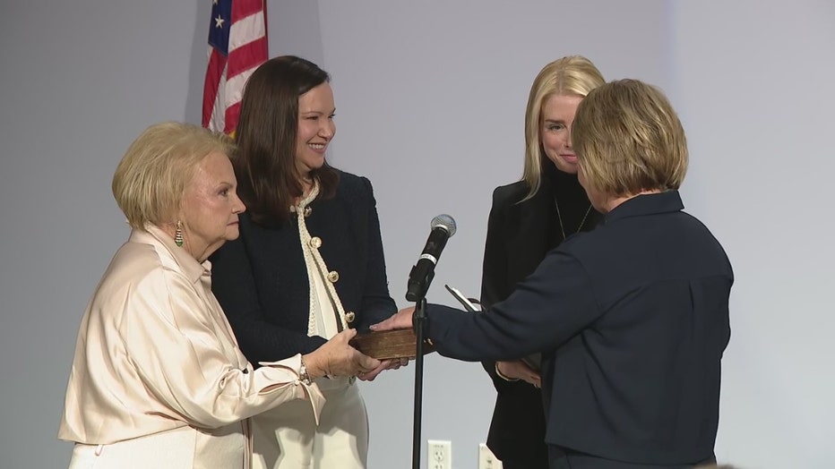
[[[307,230],[322,240],[319,252],[346,314],[360,330],[391,316],[376,201],[365,177],[340,172],[336,195],[317,198],[306,218]],[[310,284],[295,217],[277,228],[255,225],[245,212],[240,237],[215,252],[211,289],[226,312],[241,351],[256,366],[314,351],[326,342],[307,337]]]

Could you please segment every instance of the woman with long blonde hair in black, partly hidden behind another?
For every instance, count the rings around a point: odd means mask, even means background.
[[[581,99],[604,82],[579,55],[547,64],[533,81],[524,175],[493,192],[481,277],[484,308],[506,299],[566,237],[598,224],[601,216],[577,181],[569,134]],[[487,446],[504,469],[547,468],[539,371],[521,360],[483,364],[496,392]]]

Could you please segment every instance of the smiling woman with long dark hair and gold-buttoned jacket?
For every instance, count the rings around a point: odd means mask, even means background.
[[[246,82],[234,159],[247,212],[240,238],[219,250],[212,287],[254,363],[315,350],[346,328],[396,311],[371,183],[329,166],[336,126],[327,72],[296,56],[261,65]],[[358,374],[371,380],[400,361]],[[359,469],[368,422],[355,378],[317,379],[320,415],[288,405],[254,419],[254,467]]]

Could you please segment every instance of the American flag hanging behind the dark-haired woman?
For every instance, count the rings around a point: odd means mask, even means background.
[[[235,132],[244,84],[267,60],[266,0],[212,0],[203,127]]]

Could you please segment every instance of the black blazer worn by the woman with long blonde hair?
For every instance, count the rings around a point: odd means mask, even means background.
[[[567,234],[582,223],[582,231],[598,224],[602,216],[590,209],[589,199],[576,175],[544,166],[542,185],[528,200],[522,181],[497,187],[487,222],[481,304],[489,308],[504,301],[525,277],[539,265],[548,251],[563,241],[556,215],[555,198],[560,200]],[[585,220],[583,220],[585,218]],[[547,467],[545,414],[542,392],[524,381],[508,381],[495,374],[495,362],[483,362],[496,390],[493,420],[487,447],[505,461],[516,461],[529,469]]]

